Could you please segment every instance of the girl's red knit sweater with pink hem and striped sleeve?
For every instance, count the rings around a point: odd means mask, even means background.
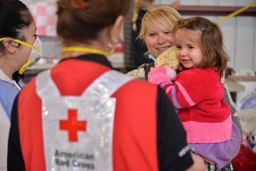
[[[174,84],[160,84],[178,109],[189,143],[218,143],[231,137],[231,110],[222,99],[224,88],[216,70],[187,69]]]

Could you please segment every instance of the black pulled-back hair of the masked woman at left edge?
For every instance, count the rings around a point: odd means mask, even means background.
[[[26,41],[22,29],[33,22],[32,14],[24,3],[19,0],[0,0],[0,38],[10,37]],[[3,41],[0,41],[0,53],[5,54]],[[15,73],[13,77],[19,79]]]

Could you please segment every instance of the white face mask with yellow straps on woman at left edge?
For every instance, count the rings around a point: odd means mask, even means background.
[[[37,36],[35,39],[35,43],[34,45],[31,45],[29,43],[20,41],[18,39],[14,39],[14,38],[9,38],[9,37],[5,37],[5,38],[0,38],[0,41],[3,41],[5,39],[11,39],[12,41],[15,41],[17,43],[23,44],[25,46],[31,47],[32,51],[31,54],[29,56],[28,61],[26,62],[26,64],[24,64],[20,70],[19,70],[19,74],[22,74],[27,68],[32,67],[33,65],[35,65],[35,63],[37,63],[42,57],[43,57],[43,46],[42,46],[42,42],[39,39],[39,37]]]

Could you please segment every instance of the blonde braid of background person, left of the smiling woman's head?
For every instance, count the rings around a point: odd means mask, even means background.
[[[138,13],[140,9],[147,8],[151,3],[154,3],[154,0],[135,0],[134,14],[132,17],[132,29],[134,31],[137,31],[136,21],[138,20]]]

